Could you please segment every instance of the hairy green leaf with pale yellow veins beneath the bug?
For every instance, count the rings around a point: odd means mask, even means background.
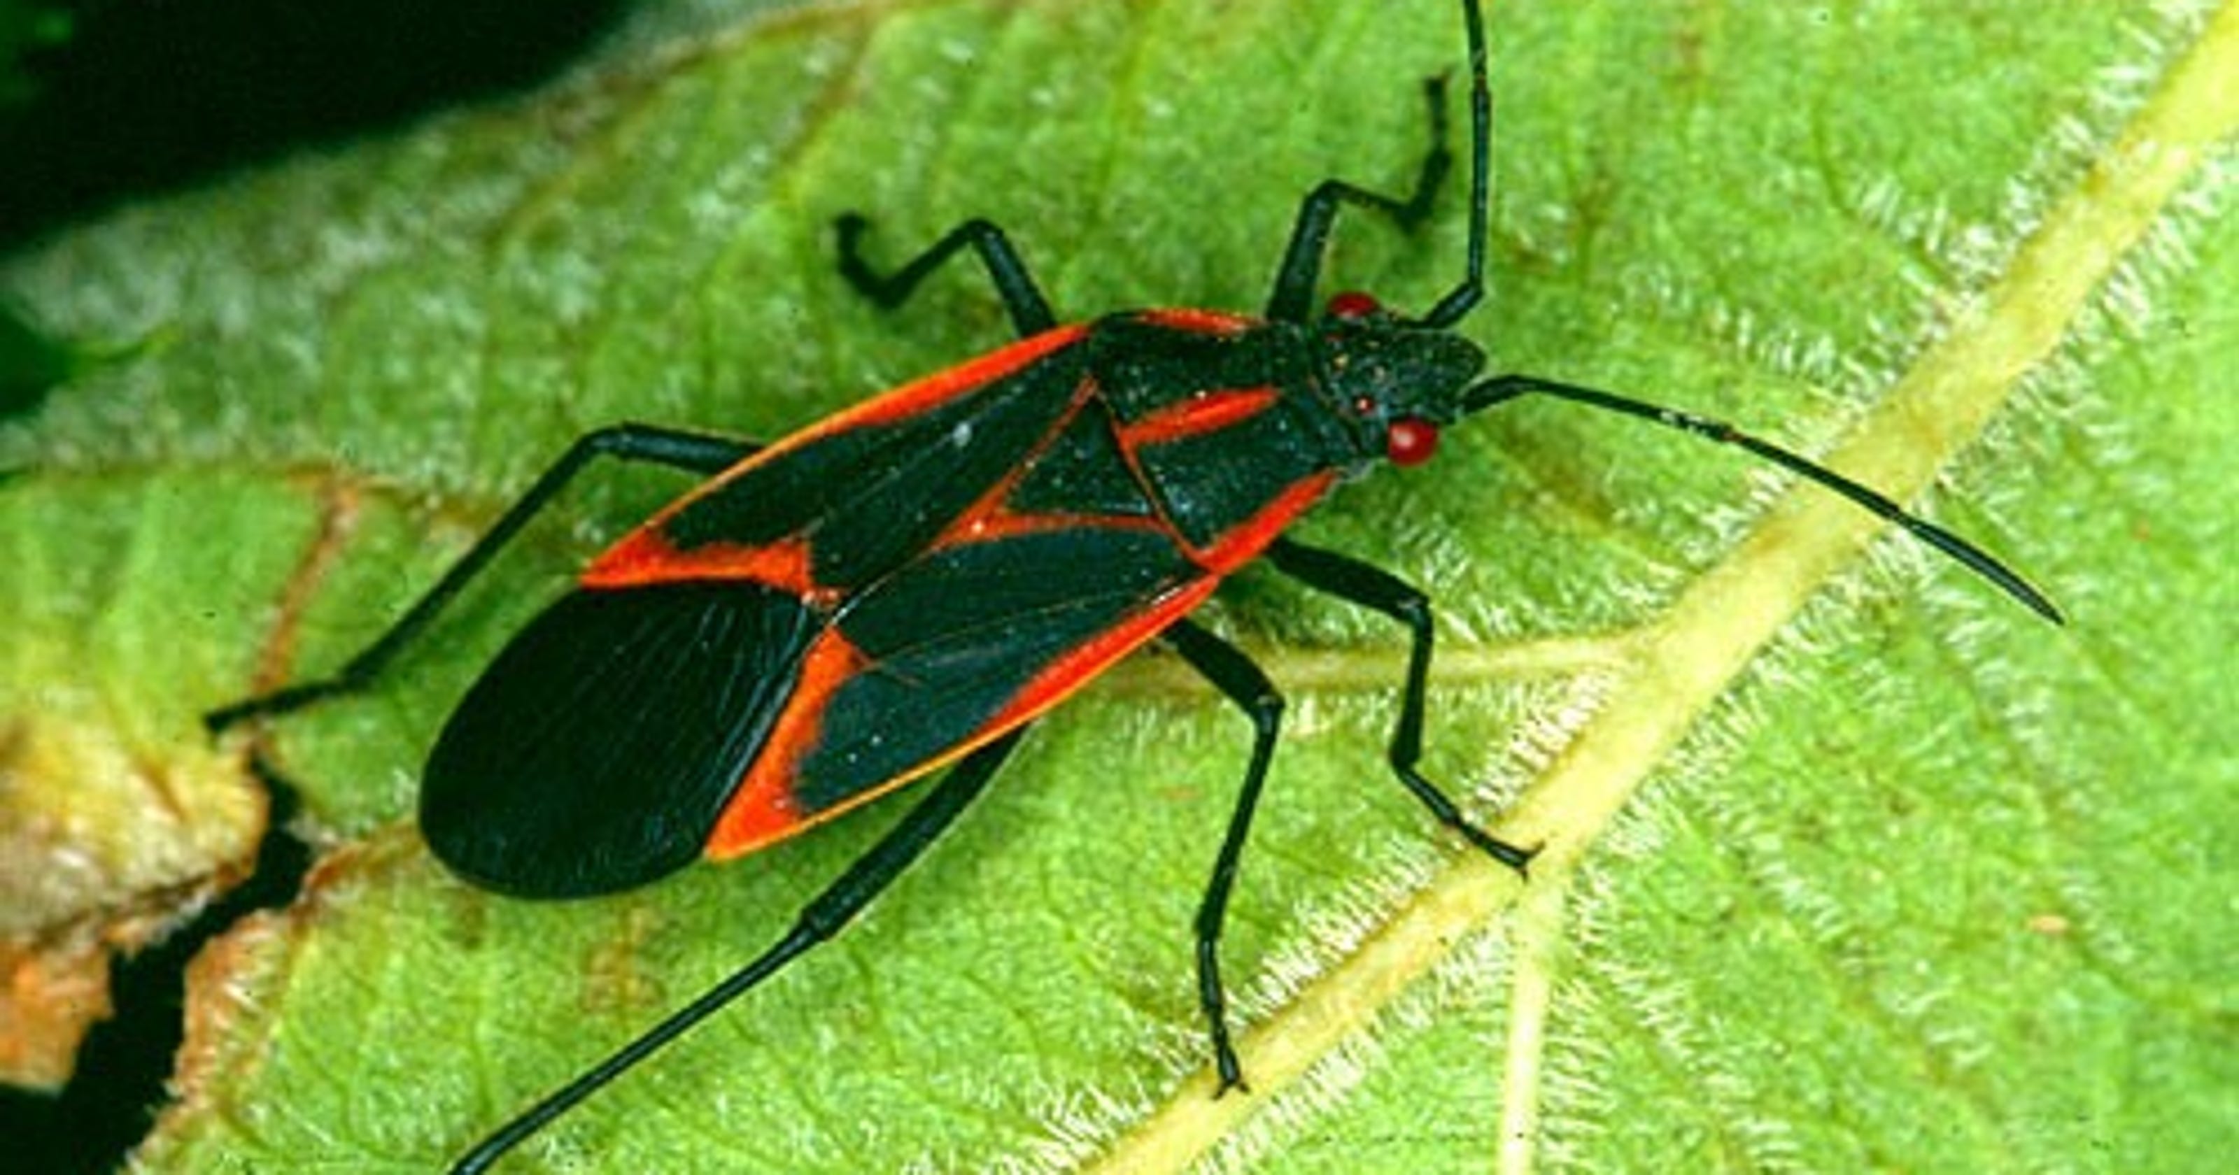
[[[172,340],[0,425],[0,877],[38,886],[58,826],[125,862],[27,924],[193,877],[177,844],[235,859],[253,801],[177,790],[246,792],[195,716],[363,647],[575,432],[770,436],[1003,338],[972,266],[860,304],[835,213],[896,257],[994,217],[1061,313],[1254,307],[1299,192],[1411,175],[1455,25],[1444,0],[656,20],[549,94],[11,262],[0,295],[63,331]],[[1500,367],[1825,454],[2071,627],[1731,452],[1489,414],[1303,535],[1440,600],[1426,768],[1545,842],[1527,884],[1388,779],[1404,636],[1247,573],[1214,620],[1294,703],[1222,947],[1252,1094],[1207,1097],[1189,953],[1247,727],[1144,658],[860,927],[510,1171],[2217,1166],[2239,13],[1516,2],[1491,29],[1467,329]],[[1417,237],[1348,219],[1332,289],[1426,304],[1460,242],[1453,199]],[[273,723],[331,853],[206,953],[148,1171],[428,1168],[759,951],[893,819],[580,904],[428,857],[446,707],[676,490],[591,481],[378,689]],[[54,765],[87,748],[123,768]],[[78,779],[141,815],[81,819]]]

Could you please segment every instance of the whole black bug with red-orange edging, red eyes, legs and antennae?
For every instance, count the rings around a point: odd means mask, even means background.
[[[1523,871],[1531,850],[1469,824],[1417,774],[1431,607],[1364,562],[1283,528],[1375,461],[1431,457],[1437,430],[1552,396],[1740,445],[1903,526],[2037,613],[2053,604],[1957,535],[1729,425],[1534,376],[1480,378],[1453,329],[1484,293],[1491,94],[1478,0],[1469,45],[1469,253],[1406,318],[1341,293],[1317,313],[1343,208],[1422,222],[1451,170],[1444,87],[1433,148],[1388,197],[1308,192],[1263,316],[1126,311],[1059,325],[1010,239],[972,219],[880,273],[869,222],[840,217],[840,273],[893,307],[972,251],[1021,340],[757,448],[647,425],[575,441],[419,604],[336,676],[208,714],[213,730],[367,685],[591,459],[705,474],[607,548],[490,662],[428,759],[421,828],[461,877],[522,897],[613,893],[696,857],[737,857],[947,768],[931,795],[819,893],[766,953],[479,1146],[481,1171],[831,938],[987,786],[1019,734],[1135,647],[1164,640],[1243,707],[1249,768],[1196,918],[1198,998],[1220,1088],[1243,1083],[1218,942],[1283,714],[1281,694],[1187,615],[1252,560],[1408,627],[1390,765],[1431,815]]]

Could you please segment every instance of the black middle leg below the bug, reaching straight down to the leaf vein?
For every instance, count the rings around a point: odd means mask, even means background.
[[[1227,996],[1220,987],[1220,922],[1229,911],[1229,891],[1236,889],[1236,866],[1245,853],[1245,835],[1252,830],[1261,786],[1267,783],[1267,763],[1274,761],[1274,739],[1283,725],[1283,694],[1258,665],[1252,665],[1252,658],[1189,620],[1178,620],[1162,636],[1191,669],[1205,674],[1216,689],[1252,716],[1252,765],[1245,768],[1245,786],[1229,815],[1229,830],[1220,839],[1214,880],[1198,902],[1196,922],[1198,1003],[1205,1007],[1205,1021],[1214,1034],[1214,1063],[1220,1070],[1218,1097],[1229,1088],[1245,1088],[1243,1065],[1236,1063],[1236,1047],[1229,1043]]]

